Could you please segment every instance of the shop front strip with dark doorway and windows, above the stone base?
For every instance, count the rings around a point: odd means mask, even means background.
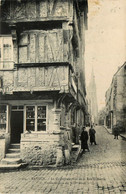
[[[18,103],[18,105],[17,105]],[[42,101],[8,101],[0,105],[0,131],[10,133],[12,143],[20,143],[21,133],[47,131],[48,107]]]

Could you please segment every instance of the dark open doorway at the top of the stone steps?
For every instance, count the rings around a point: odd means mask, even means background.
[[[11,143],[20,143],[23,133],[23,111],[11,111]]]

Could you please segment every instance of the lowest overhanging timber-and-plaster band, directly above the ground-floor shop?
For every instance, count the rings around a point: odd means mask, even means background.
[[[69,63],[15,64],[14,69],[0,71],[0,91],[3,95],[58,91],[77,99],[77,81],[72,72]]]

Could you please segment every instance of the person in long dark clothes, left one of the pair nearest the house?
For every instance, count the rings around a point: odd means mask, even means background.
[[[80,140],[81,140],[81,149],[83,149],[83,153],[85,152],[85,150],[90,151],[88,147],[88,132],[86,131],[85,127],[82,128]]]

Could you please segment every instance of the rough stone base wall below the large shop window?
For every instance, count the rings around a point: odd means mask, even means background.
[[[64,132],[22,134],[21,159],[30,165],[64,165],[69,157],[65,158],[66,150],[69,155],[71,150],[65,136]]]

